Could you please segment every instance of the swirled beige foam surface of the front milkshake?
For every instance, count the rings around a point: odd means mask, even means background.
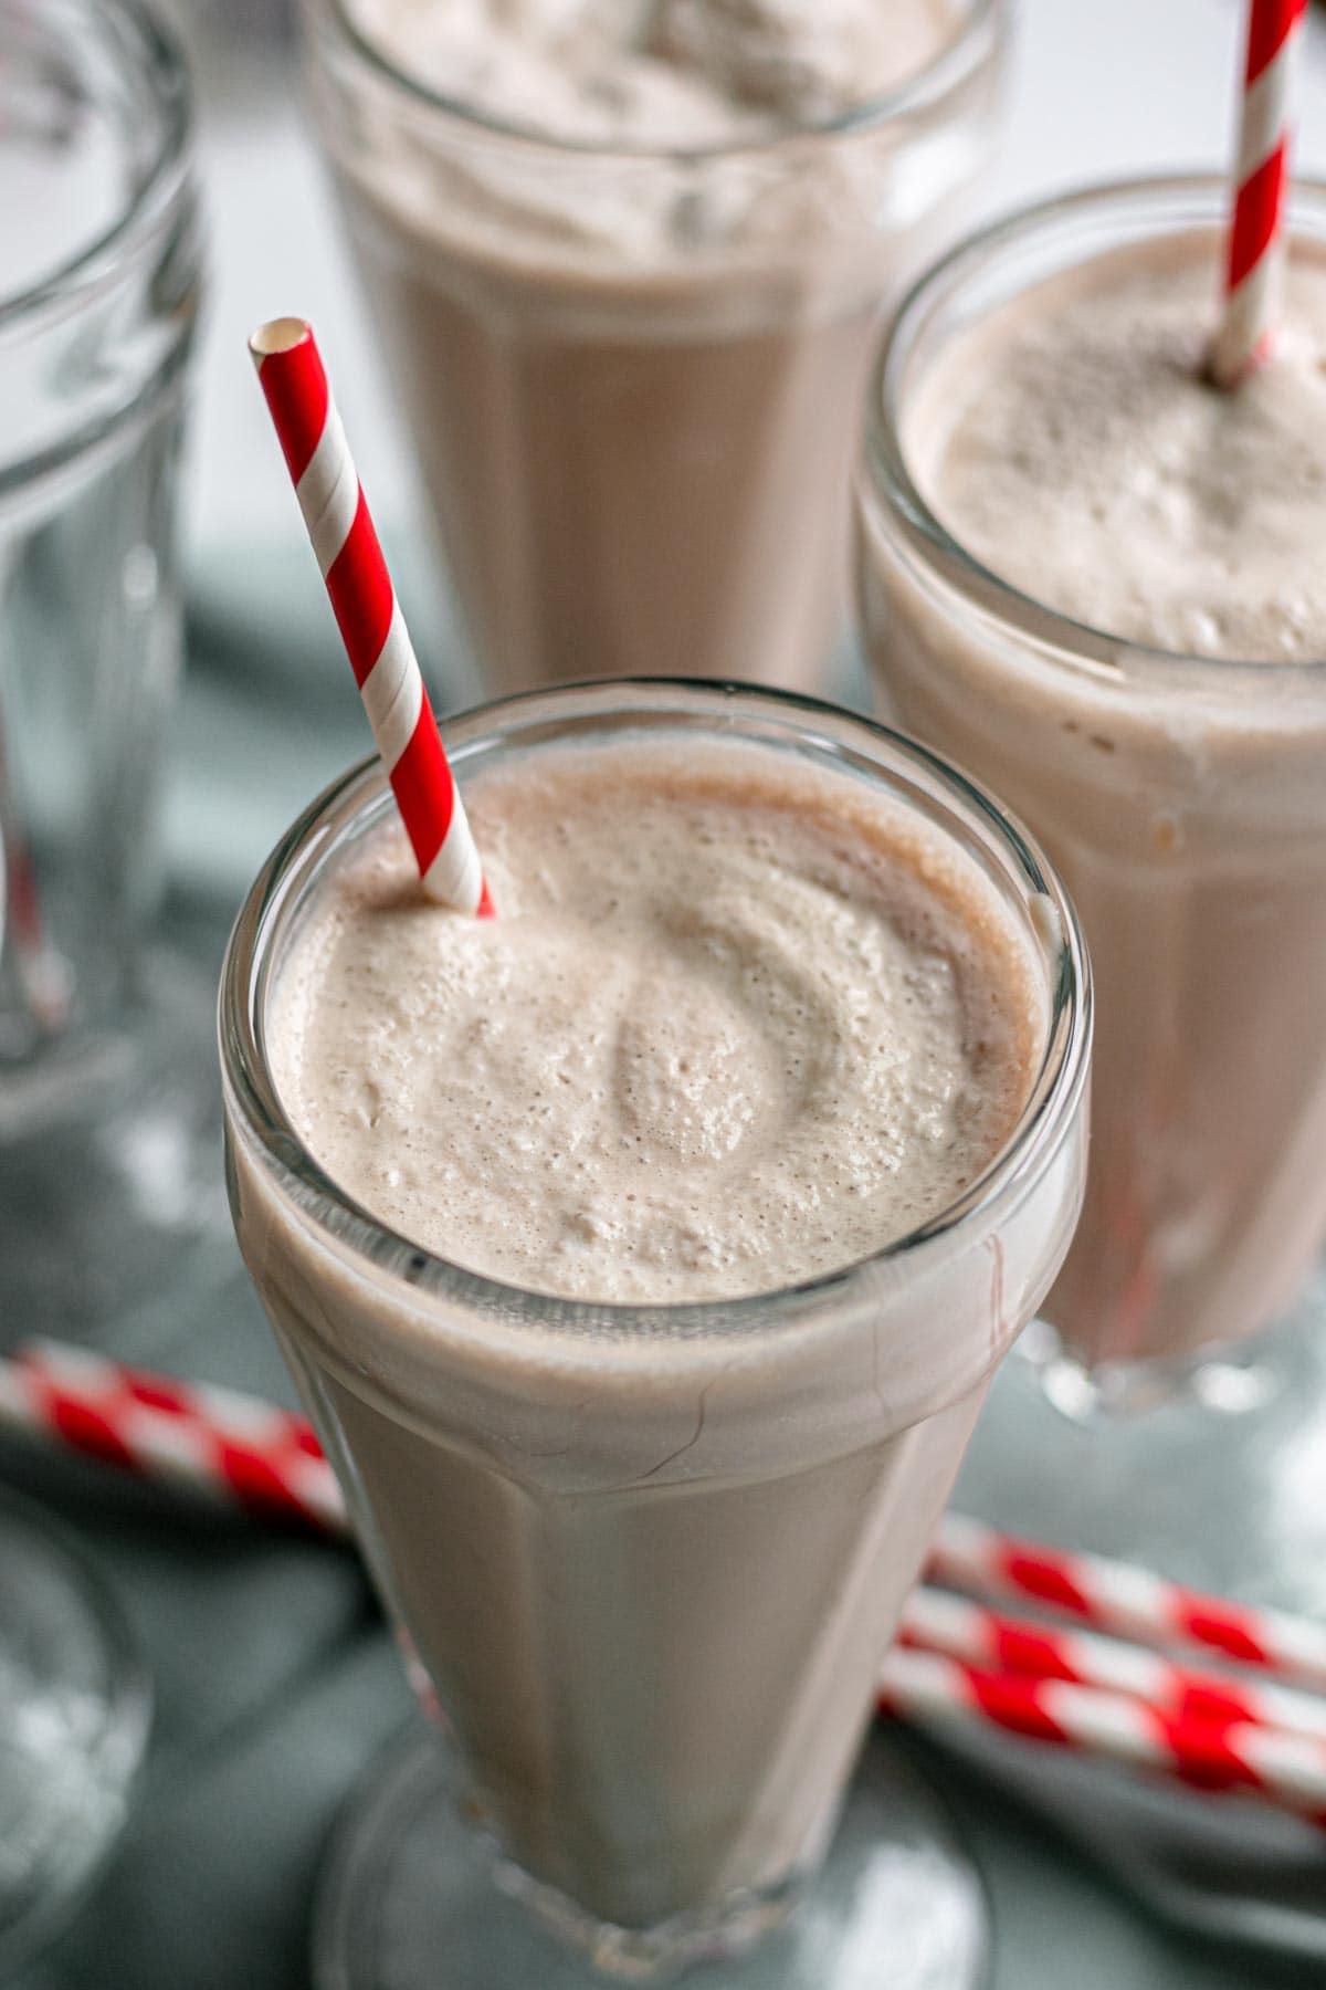
[[[1008,1140],[1042,975],[916,814],[692,744],[537,754],[467,802],[499,917],[427,903],[384,828],[272,1011],[286,1110],[392,1228],[531,1290],[714,1299],[879,1250]]]

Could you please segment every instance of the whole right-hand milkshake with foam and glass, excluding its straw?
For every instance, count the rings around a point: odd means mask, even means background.
[[[861,587],[881,693],[1044,836],[1101,1021],[1087,1204],[1046,1307],[1191,1361],[1326,1226],[1326,203],[1274,362],[1205,384],[1225,189],[1022,215],[905,304]]]

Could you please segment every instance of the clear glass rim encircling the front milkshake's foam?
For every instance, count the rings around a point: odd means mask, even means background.
[[[809,730],[829,746],[841,744],[843,734],[857,734],[867,746],[883,742],[889,754],[901,756],[907,766],[916,768],[922,780],[938,782],[944,804],[954,816],[974,814],[1022,882],[1034,894],[1050,897],[1062,925],[1062,963],[1058,985],[1052,989],[1042,1067],[1012,1136],[968,1190],[907,1236],[895,1238],[881,1250],[835,1272],[744,1297],[654,1305],[565,1299],[509,1286],[427,1252],[380,1222],[322,1172],[286,1116],[266,1065],[258,1015],[264,971],[270,967],[266,959],[270,935],[288,892],[298,888],[300,868],[318,862],[316,852],[318,844],[326,840],[328,818],[350,804],[352,816],[348,820],[358,824],[372,804],[382,806],[388,796],[386,776],[376,756],[358,762],[304,810],[268,856],[245,897],[221,971],[219,1039],[227,1104],[237,1110],[243,1128],[260,1148],[264,1164],[276,1176],[282,1192],[304,1210],[310,1208],[312,1200],[318,1228],[332,1228],[338,1246],[350,1248],[366,1272],[376,1270],[380,1276],[384,1266],[398,1272],[408,1268],[410,1282],[433,1295],[487,1313],[497,1311],[507,1319],[525,1315],[531,1321],[537,1319],[545,1331],[559,1327],[573,1331],[592,1317],[596,1329],[626,1337],[642,1335],[660,1323],[668,1323],[674,1331],[726,1333],[767,1327],[783,1309],[795,1309],[797,1317],[803,1317],[807,1307],[821,1299],[851,1299],[875,1268],[895,1264],[920,1246],[948,1236],[960,1224],[988,1216],[1004,1198],[1016,1200],[1026,1186],[1040,1178],[1060,1150],[1085,1087],[1091,1043],[1091,971],[1077,913],[1040,846],[984,788],[905,734],[799,693],[688,679],[590,681],[561,685],[557,691],[523,693],[473,706],[447,720],[457,770],[463,774],[465,758],[481,752],[485,744],[499,736],[509,738],[521,716],[531,724],[539,718],[575,716],[577,710],[592,708],[604,693],[618,696],[614,716],[620,716],[620,710],[638,714],[642,720],[668,712],[682,716],[688,708],[712,712],[714,730],[720,736],[724,728],[734,730],[732,698],[740,696],[746,710],[753,704],[757,712],[787,724],[799,720],[803,732]],[[686,700],[686,704],[678,700]],[[475,728],[473,736],[457,740],[465,728]]]

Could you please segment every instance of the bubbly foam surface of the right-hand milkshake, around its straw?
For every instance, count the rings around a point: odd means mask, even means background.
[[[1290,263],[1276,356],[1203,380],[1209,239],[1117,251],[994,310],[909,422],[920,488],[1002,579],[1135,643],[1326,659],[1326,259]]]

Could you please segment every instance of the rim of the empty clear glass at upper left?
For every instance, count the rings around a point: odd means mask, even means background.
[[[0,0],[0,10],[8,14],[10,0]],[[143,179],[133,187],[109,227],[93,235],[91,241],[83,243],[82,249],[66,257],[64,263],[58,263],[56,269],[48,271],[34,285],[12,295],[0,293],[0,332],[52,304],[85,277],[91,277],[97,265],[109,259],[133,235],[143,215],[153,211],[163,197],[163,189],[169,189],[171,181],[183,177],[189,147],[191,94],[189,72],[177,44],[141,0],[99,0],[97,6],[83,6],[83,14],[85,26],[91,26],[97,34],[113,34],[115,28],[127,32],[127,40],[135,50],[135,58],[161,113],[157,149]]]

